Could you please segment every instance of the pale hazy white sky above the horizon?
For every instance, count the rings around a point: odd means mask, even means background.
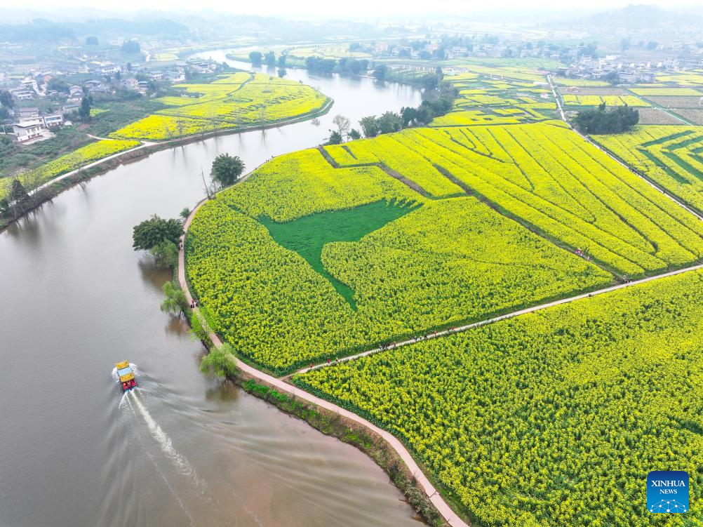
[[[658,2],[660,5],[693,5],[702,2],[692,1],[666,1]],[[21,4],[21,3],[20,3]],[[376,15],[388,15],[399,13],[423,13],[441,9],[445,13],[468,13],[471,11],[483,11],[486,9],[506,11],[512,9],[554,8],[564,10],[565,8],[588,8],[607,9],[623,7],[628,4],[654,4],[652,1],[637,0],[589,0],[583,4],[568,3],[564,0],[444,0],[433,4],[417,0],[352,0],[334,2],[330,0],[266,0],[266,1],[243,1],[243,0],[119,0],[115,2],[96,3],[93,0],[32,0],[27,4],[18,4],[14,0],[0,0],[0,15],[2,8],[25,8],[25,9],[46,9],[56,11],[65,7],[85,6],[88,8],[109,9],[110,11],[134,11],[140,9],[157,9],[171,11],[173,9],[186,9],[195,11],[198,9],[212,9],[214,11],[227,11],[230,13],[256,14],[256,15],[311,15],[318,16],[342,16],[344,14],[359,16],[367,15],[368,18],[375,18]],[[1,18],[1,16],[0,16]]]

